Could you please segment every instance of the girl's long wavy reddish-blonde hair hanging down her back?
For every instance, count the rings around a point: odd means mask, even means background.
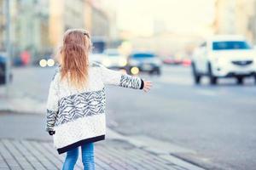
[[[91,41],[88,31],[82,29],[67,30],[61,47],[61,80],[75,88],[84,88],[88,81],[89,54]]]

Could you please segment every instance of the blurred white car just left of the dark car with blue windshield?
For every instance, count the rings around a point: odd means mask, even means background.
[[[118,49],[108,48],[104,50],[102,58],[102,65],[113,69],[124,69],[127,64],[127,59],[124,55],[119,53]]]

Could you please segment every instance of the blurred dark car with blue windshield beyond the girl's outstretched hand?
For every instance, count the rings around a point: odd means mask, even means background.
[[[129,56],[126,71],[137,74],[139,71],[160,75],[161,61],[154,53],[136,52]]]

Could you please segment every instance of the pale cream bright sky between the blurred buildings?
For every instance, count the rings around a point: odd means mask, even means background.
[[[207,34],[214,20],[215,0],[119,0],[120,30],[150,36],[155,29]]]

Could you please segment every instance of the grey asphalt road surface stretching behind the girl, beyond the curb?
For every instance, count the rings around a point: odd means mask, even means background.
[[[45,101],[53,68],[15,68],[12,93]],[[125,135],[177,144],[173,152],[208,169],[255,169],[256,85],[207,79],[195,86],[189,68],[165,66],[161,77],[143,78],[152,90],[107,88],[108,126]]]

